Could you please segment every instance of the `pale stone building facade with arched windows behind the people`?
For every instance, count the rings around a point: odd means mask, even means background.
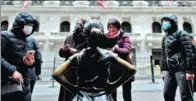
[[[33,0],[34,1],[34,0]],[[107,22],[117,18],[122,29],[130,36],[134,56],[160,57],[161,17],[175,14],[178,27],[185,29],[196,37],[196,2],[195,1],[107,1],[103,8],[96,1],[39,1],[30,2],[24,9],[21,1],[2,1],[1,30],[12,27],[15,16],[27,11],[36,16],[40,22],[34,37],[40,47],[44,60],[58,57],[58,50],[68,35],[72,34],[77,19],[99,19],[107,32]],[[170,4],[171,3],[171,4]]]

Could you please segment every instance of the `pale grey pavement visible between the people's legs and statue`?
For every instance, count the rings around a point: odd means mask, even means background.
[[[162,95],[163,82],[156,80],[152,83],[150,80],[137,80],[133,83],[132,97],[133,101],[164,101]],[[36,83],[32,101],[58,101],[60,85],[55,83],[55,87],[51,84]],[[123,101],[122,87],[117,90],[118,101]],[[196,100],[196,96],[194,96]],[[176,93],[176,101],[181,101],[179,91]]]

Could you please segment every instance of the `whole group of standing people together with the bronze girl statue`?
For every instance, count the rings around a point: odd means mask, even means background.
[[[39,26],[32,14],[19,13],[9,31],[1,31],[2,101],[31,101],[36,77],[41,73],[42,56],[31,35]],[[196,42],[178,29],[175,15],[161,20],[161,75],[165,101],[175,101],[179,86],[182,101],[194,101]],[[58,101],[117,101],[122,85],[124,101],[132,101],[136,67],[132,61],[131,40],[118,19],[111,18],[108,32],[100,20],[78,19],[73,34],[59,49],[65,62],[52,73],[61,84]],[[134,100],[134,99],[133,99]]]

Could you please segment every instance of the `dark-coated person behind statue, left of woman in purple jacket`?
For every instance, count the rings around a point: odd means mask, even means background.
[[[59,50],[59,56],[68,59],[71,55],[79,52],[88,46],[86,35],[83,33],[83,27],[86,23],[85,19],[78,19],[76,22],[73,34],[67,36],[64,45]],[[76,69],[71,68],[67,75],[65,75],[71,83],[76,84]],[[67,91],[63,86],[60,87],[58,101],[71,101],[73,95]]]

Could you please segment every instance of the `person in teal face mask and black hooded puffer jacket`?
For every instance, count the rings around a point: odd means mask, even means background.
[[[175,101],[179,86],[182,101],[193,99],[193,49],[187,32],[178,29],[178,19],[168,14],[161,19],[165,31],[162,39],[161,74],[164,81],[165,101]]]

